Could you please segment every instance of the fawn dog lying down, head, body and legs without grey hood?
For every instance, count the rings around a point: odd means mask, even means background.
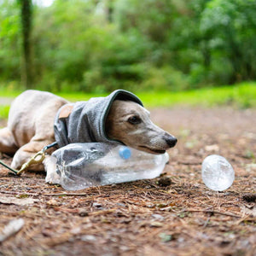
[[[49,143],[55,142],[54,121],[58,110],[68,102],[49,92],[26,90],[13,102],[8,126],[0,130],[0,152],[15,154],[11,166],[19,169],[32,155]],[[164,153],[177,139],[154,125],[149,112],[131,101],[115,100],[106,119],[106,133],[131,148],[152,154]],[[82,142],[85,143],[85,142]],[[56,148],[49,150],[51,154]],[[50,182],[48,159],[44,165],[32,166],[34,171],[46,169]]]

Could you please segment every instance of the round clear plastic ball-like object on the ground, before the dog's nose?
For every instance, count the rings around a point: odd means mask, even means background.
[[[208,155],[201,166],[203,182],[209,189],[223,191],[229,189],[235,179],[235,172],[223,156]]]

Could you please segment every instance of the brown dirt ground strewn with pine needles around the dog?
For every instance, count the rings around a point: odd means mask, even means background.
[[[72,192],[44,183],[44,173],[15,177],[0,167],[0,231],[24,220],[0,255],[256,255],[256,109],[151,116],[178,139],[161,177]],[[209,154],[234,167],[230,189],[202,183]]]

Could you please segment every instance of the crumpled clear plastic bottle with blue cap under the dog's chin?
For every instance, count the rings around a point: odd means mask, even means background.
[[[74,143],[51,155],[63,189],[124,183],[158,177],[169,155],[148,154],[108,143]]]

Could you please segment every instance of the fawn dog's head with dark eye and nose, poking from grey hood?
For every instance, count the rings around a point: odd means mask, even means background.
[[[163,154],[177,143],[177,138],[151,121],[149,112],[136,102],[113,102],[106,120],[109,139],[151,154]]]

